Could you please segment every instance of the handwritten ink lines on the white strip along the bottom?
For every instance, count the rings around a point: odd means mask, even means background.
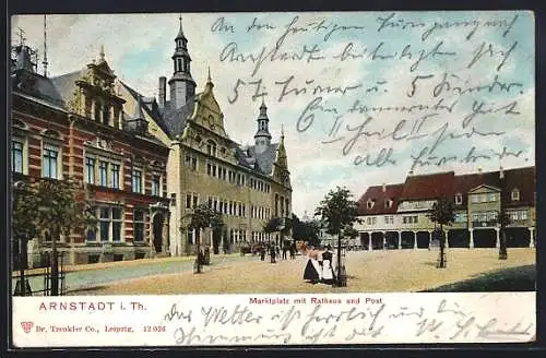
[[[176,345],[525,342],[535,333],[527,310],[495,314],[518,299],[510,295],[384,296],[306,295],[282,301],[240,296],[234,305],[226,300],[198,311],[174,303],[162,323]],[[497,308],[494,315],[487,307]]]

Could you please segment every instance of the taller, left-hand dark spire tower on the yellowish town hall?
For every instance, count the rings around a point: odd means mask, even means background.
[[[188,53],[188,39],[182,31],[182,16],[179,17],[180,28],[175,38],[175,53],[173,53],[173,76],[168,84],[170,87],[170,109],[183,107],[188,100],[195,96],[195,81],[191,77]]]

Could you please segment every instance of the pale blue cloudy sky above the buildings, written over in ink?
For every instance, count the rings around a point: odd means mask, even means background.
[[[284,129],[300,217],[337,186],[357,200],[369,186],[403,182],[411,170],[535,165],[532,12],[181,19],[198,92],[210,68],[228,135],[253,144],[262,98],[274,142]],[[22,28],[41,56],[44,16],[11,21],[12,41]],[[104,45],[120,80],[157,96],[158,77],[173,74],[178,28],[177,13],[47,15],[48,75],[82,69]]]

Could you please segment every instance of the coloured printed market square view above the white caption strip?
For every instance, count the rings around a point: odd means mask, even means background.
[[[535,290],[531,15],[405,15],[14,16],[12,294]]]

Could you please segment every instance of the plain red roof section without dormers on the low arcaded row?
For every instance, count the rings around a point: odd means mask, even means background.
[[[453,171],[406,178],[402,200],[427,200],[453,196]]]

